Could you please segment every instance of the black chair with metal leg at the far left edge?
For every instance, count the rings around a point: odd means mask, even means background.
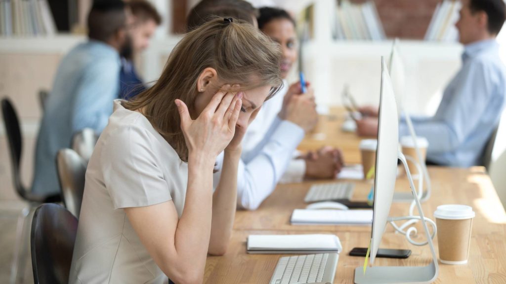
[[[18,116],[9,99],[2,99],[2,115],[4,118],[7,139],[9,140],[9,150],[12,164],[12,176],[14,189],[16,193],[28,202],[28,208],[25,208],[18,219],[18,227],[16,229],[16,244],[14,247],[14,260],[12,263],[11,282],[17,282],[18,278],[23,274],[26,255],[25,246],[28,241],[28,228],[26,219],[28,215],[41,203],[60,202],[60,194],[55,195],[37,195],[26,190],[21,181],[21,153],[23,151],[23,140],[19,126]],[[19,275],[21,274],[21,275]]]

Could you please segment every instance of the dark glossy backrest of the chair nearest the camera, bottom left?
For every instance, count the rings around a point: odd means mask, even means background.
[[[35,284],[68,283],[77,219],[53,203],[40,205],[33,214],[30,247]]]

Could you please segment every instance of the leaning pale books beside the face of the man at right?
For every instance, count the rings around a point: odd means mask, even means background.
[[[439,3],[425,34],[425,40],[456,41],[458,31],[455,23],[458,21],[460,8],[461,4],[457,0],[443,0]]]

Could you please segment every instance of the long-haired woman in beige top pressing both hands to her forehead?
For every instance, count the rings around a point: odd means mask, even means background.
[[[241,140],[282,84],[279,60],[255,27],[215,18],[181,39],[151,88],[114,102],[88,165],[70,283],[202,282],[207,254],[227,250]]]

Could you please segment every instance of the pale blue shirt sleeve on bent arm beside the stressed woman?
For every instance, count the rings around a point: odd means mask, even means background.
[[[246,153],[239,161],[237,176],[237,205],[248,210],[257,209],[272,193],[292,160],[293,152],[304,138],[304,130],[283,120],[262,147]]]

